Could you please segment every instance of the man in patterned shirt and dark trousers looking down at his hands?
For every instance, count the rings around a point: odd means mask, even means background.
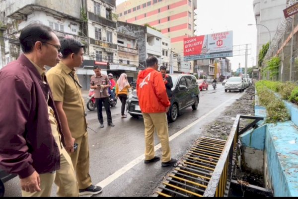
[[[95,90],[95,103],[97,109],[97,118],[99,127],[103,128],[102,103],[107,114],[108,126],[115,126],[112,122],[112,114],[110,109],[110,99],[108,89],[111,86],[108,76],[101,73],[101,69],[94,67],[95,75],[90,78],[90,88]]]

